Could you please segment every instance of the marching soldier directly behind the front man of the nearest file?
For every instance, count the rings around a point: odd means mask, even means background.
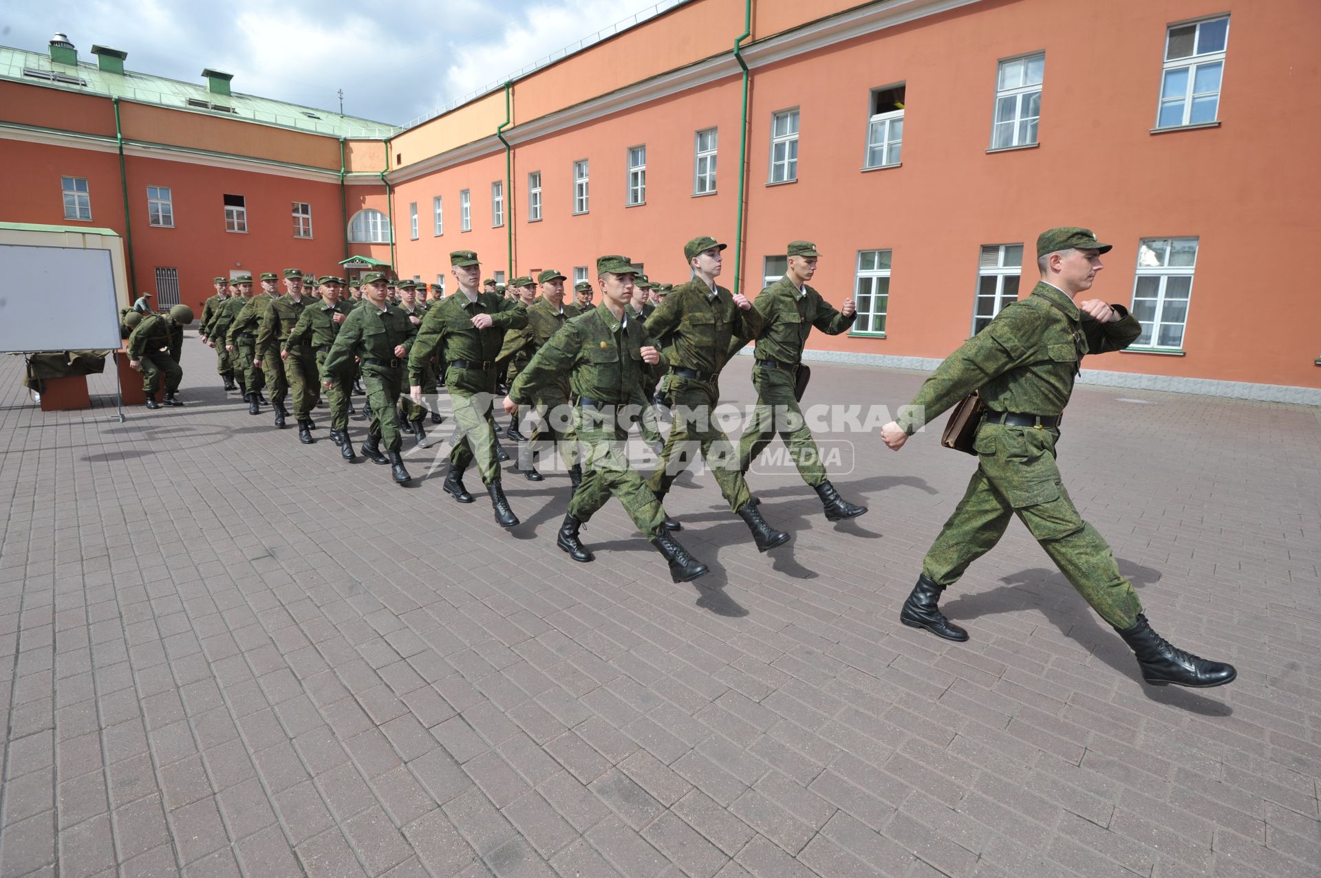
[[[501,527],[514,527],[518,516],[510,510],[501,486],[491,407],[495,403],[495,354],[499,353],[501,339],[506,330],[527,325],[527,309],[514,300],[477,292],[481,263],[473,251],[456,250],[449,253],[449,263],[458,290],[428,310],[421,321],[408,356],[410,395],[415,403],[421,403],[427,360],[436,350],[443,351],[445,386],[458,428],[454,449],[449,454],[445,492],[460,503],[473,502],[462,478],[476,458],[491,498],[495,522]]]

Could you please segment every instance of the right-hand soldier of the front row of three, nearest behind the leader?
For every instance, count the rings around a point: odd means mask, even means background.
[[[835,310],[820,293],[807,285],[816,273],[816,259],[820,256],[816,244],[795,240],[789,244],[787,253],[785,276],[761,290],[752,304],[762,318],[752,370],[757,408],[738,440],[738,470],[748,473],[753,461],[778,433],[789,446],[789,456],[798,466],[798,474],[820,498],[826,520],[840,522],[857,518],[867,512],[867,507],[853,506],[841,498],[826,478],[820,452],[798,407],[794,387],[807,334],[814,326],[830,335],[848,330],[853,325],[853,300],[845,298],[843,310]],[[732,339],[728,356],[737,354],[745,343],[738,338]]]

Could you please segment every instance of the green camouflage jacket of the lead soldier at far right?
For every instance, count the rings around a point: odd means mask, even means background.
[[[1063,292],[1038,283],[931,372],[913,397],[921,409],[902,413],[900,426],[913,433],[923,416],[930,422],[972,391],[995,412],[1063,413],[1082,356],[1124,350],[1143,331],[1128,309],[1111,308],[1119,320],[1098,323]]]

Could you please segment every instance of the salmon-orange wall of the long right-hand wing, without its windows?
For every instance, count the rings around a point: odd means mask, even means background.
[[[770,7],[758,12],[758,28],[787,26],[789,7]],[[667,18],[679,26],[688,9]],[[892,250],[886,338],[814,334],[808,346],[938,358],[971,331],[982,244],[1025,244],[1025,294],[1037,277],[1037,234],[1089,226],[1115,244],[1095,294],[1127,305],[1139,239],[1197,236],[1186,355],[1110,354],[1090,366],[1321,386],[1316,296],[1305,284],[1263,280],[1267,253],[1308,252],[1316,227],[1321,174],[1310,154],[1321,135],[1321,65],[1309,34],[1318,32],[1321,7],[1276,0],[1229,11],[1217,128],[1149,133],[1166,25],[1221,12],[1199,0],[1123,4],[1099,20],[1082,0],[995,0],[756,67],[744,292],[757,292],[762,257],[797,238],[820,246],[814,285],[836,304],[852,294],[857,251]],[[1089,24],[1063,26],[1069,21]],[[741,25],[740,16],[728,42]],[[602,49],[584,57],[604,58]],[[997,61],[1041,50],[1040,147],[987,153]],[[517,119],[526,123],[536,115],[530,106],[550,100],[539,91],[544,82],[543,73],[515,84]],[[613,87],[601,77],[590,82],[598,92]],[[898,82],[906,83],[902,166],[863,172],[871,90]],[[732,243],[738,100],[733,78],[519,144],[515,273],[553,267],[569,275],[598,253],[624,252],[645,261],[653,280],[684,280],[684,240],[712,234]],[[798,181],[768,186],[771,114],[791,107],[801,110]],[[692,139],[708,125],[720,127],[720,194],[694,198]],[[625,207],[625,154],[637,144],[647,145],[647,203]],[[590,213],[572,217],[572,161],[584,157]],[[530,170],[543,172],[540,223],[524,217]],[[489,269],[505,268],[505,230],[490,228],[490,181],[499,178],[503,154],[495,153],[400,184],[400,273],[435,280],[448,267],[444,253],[458,246],[478,250]],[[457,235],[462,187],[473,190],[474,231]],[[445,197],[440,239],[431,235],[435,194]],[[419,202],[417,242],[407,240],[411,201]],[[733,247],[725,256],[721,280],[732,285]]]

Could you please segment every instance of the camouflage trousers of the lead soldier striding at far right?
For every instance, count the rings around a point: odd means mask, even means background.
[[[1110,544],[1078,515],[1055,466],[1054,429],[982,424],[978,471],[945,523],[922,573],[955,582],[1000,541],[1015,515],[1100,618],[1128,628],[1143,611],[1132,584],[1119,573]]]

